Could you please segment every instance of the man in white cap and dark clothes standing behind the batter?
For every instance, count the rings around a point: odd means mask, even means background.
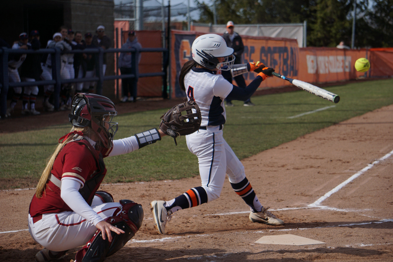
[[[235,65],[242,64],[242,54],[244,52],[244,45],[243,45],[243,40],[242,37],[233,31],[233,28],[235,27],[234,23],[232,21],[228,21],[227,23],[227,31],[224,33],[222,36],[227,43],[227,46],[229,48],[233,49],[233,55],[235,56]],[[223,77],[228,80],[230,83],[232,83],[232,76],[229,73],[230,71],[222,71]],[[238,75],[234,77],[234,80],[236,81],[236,84],[239,87],[246,88],[246,81],[244,80],[243,75]],[[225,99],[227,101],[227,106],[233,106],[232,101],[229,99]],[[244,101],[244,106],[253,106],[254,104],[251,103],[251,99],[247,99]]]

